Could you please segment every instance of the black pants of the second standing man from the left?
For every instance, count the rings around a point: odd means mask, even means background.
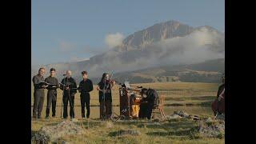
[[[57,91],[48,90],[47,93],[47,106],[46,106],[46,117],[49,117],[50,114],[50,105],[52,105],[52,116],[55,116],[56,113],[56,101],[57,101]]]

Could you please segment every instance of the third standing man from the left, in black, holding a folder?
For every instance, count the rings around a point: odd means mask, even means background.
[[[71,71],[66,71],[66,78],[62,79],[61,90],[64,91],[63,102],[63,118],[67,118],[67,106],[70,102],[70,118],[74,118],[74,94],[77,93],[77,83],[71,78]]]

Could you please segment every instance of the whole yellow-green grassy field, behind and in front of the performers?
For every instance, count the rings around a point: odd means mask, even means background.
[[[210,109],[210,102],[216,97],[219,84],[214,83],[194,83],[194,82],[159,82],[134,84],[132,86],[143,86],[154,88],[158,93],[165,97],[164,111],[166,115],[173,114],[174,110],[185,110],[188,114],[197,114],[203,117],[213,117]],[[168,90],[168,91],[166,91]],[[33,91],[31,92],[31,111],[33,106]],[[149,121],[136,120],[115,122],[114,126],[108,128],[106,122],[98,120],[98,91],[90,93],[91,114],[90,119],[81,119],[78,124],[85,127],[87,133],[77,136],[66,136],[63,138],[68,142],[74,143],[224,143],[223,138],[202,138],[195,129],[198,122],[179,119],[160,122],[161,125],[146,125]],[[57,118],[50,118],[38,121],[31,121],[32,133],[38,131],[42,126],[54,125],[61,122],[62,91],[58,90]],[[75,118],[81,118],[81,107],[79,94],[75,95]],[[113,90],[114,112],[119,114],[118,86]],[[45,105],[46,106],[46,98]],[[45,116],[45,107],[42,117]],[[116,136],[118,130],[139,130],[140,136]]]

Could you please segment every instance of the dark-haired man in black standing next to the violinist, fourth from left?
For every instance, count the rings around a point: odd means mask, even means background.
[[[85,106],[87,110],[86,118],[90,117],[90,91],[94,90],[93,82],[88,79],[86,71],[82,71],[82,81],[79,83],[78,91],[80,94],[82,118],[85,118]],[[86,105],[85,105],[86,104]]]

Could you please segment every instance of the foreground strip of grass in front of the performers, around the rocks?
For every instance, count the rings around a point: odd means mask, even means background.
[[[55,125],[62,119],[55,118],[44,121],[34,121],[32,131],[39,130],[42,125]],[[161,125],[148,125],[146,120],[134,122],[115,122],[113,127],[106,127],[106,122],[98,119],[79,120],[78,125],[86,129],[86,134],[65,136],[62,138],[74,143],[224,143],[223,138],[203,138],[198,134],[198,122],[187,119],[169,120],[161,122]],[[89,125],[88,125],[89,123]],[[35,127],[38,126],[38,127]],[[119,130],[138,130],[141,135],[118,136]]]

